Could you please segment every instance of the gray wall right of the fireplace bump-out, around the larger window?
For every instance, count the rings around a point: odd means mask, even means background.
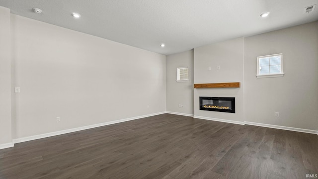
[[[285,76],[257,79],[256,57],[277,53]],[[317,21],[246,37],[244,94],[246,121],[318,130]]]

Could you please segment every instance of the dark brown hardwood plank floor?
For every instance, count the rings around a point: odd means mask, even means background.
[[[306,179],[318,135],[162,114],[0,150],[0,179]]]

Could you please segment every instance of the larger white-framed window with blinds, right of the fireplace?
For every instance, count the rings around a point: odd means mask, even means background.
[[[283,54],[257,57],[257,78],[283,76]]]

